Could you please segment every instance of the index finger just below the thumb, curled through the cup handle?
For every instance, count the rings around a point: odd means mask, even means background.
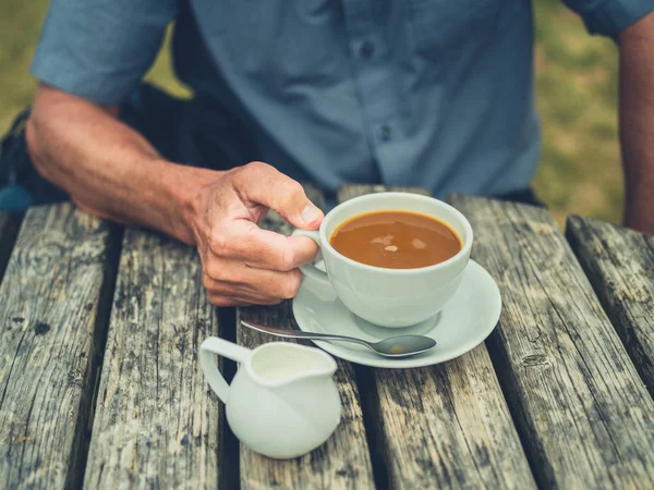
[[[308,264],[318,253],[318,246],[306,236],[280,235],[247,220],[218,231],[210,244],[214,255],[258,269],[289,271]]]

